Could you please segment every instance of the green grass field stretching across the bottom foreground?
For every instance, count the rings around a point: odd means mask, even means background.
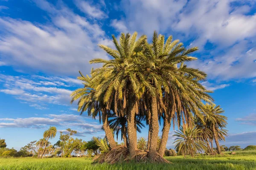
[[[0,158],[0,170],[256,170],[256,150],[223,156],[166,157],[171,164],[91,164],[86,158]]]

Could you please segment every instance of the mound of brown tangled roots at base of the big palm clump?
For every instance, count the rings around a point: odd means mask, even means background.
[[[136,154],[133,158],[130,157],[129,150],[125,146],[117,146],[111,149],[108,153],[102,153],[94,157],[93,163],[109,163],[114,164],[118,162],[128,162],[128,161],[137,161],[137,162],[150,162],[148,150],[136,150]],[[155,161],[156,163],[170,163],[159,153],[156,154]]]

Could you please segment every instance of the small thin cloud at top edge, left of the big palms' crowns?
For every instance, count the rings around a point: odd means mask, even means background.
[[[102,19],[108,17],[103,11],[101,11],[97,6],[84,1],[84,0],[75,0],[76,6],[85,14],[90,15],[91,17]]]

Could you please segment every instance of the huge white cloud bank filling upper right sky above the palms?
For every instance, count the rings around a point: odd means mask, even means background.
[[[113,20],[111,26],[149,36],[157,30],[199,46],[200,60],[191,66],[207,72],[209,79],[252,78],[256,77],[255,6],[251,0],[129,0],[122,1],[125,18]],[[214,48],[205,48],[207,43]]]

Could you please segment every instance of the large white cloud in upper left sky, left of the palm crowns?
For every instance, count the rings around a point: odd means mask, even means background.
[[[47,11],[52,23],[41,25],[1,17],[1,62],[16,70],[77,75],[79,70],[90,72],[90,59],[108,59],[97,46],[108,37],[96,22],[73,13],[65,5],[57,9],[45,0],[35,3]]]

